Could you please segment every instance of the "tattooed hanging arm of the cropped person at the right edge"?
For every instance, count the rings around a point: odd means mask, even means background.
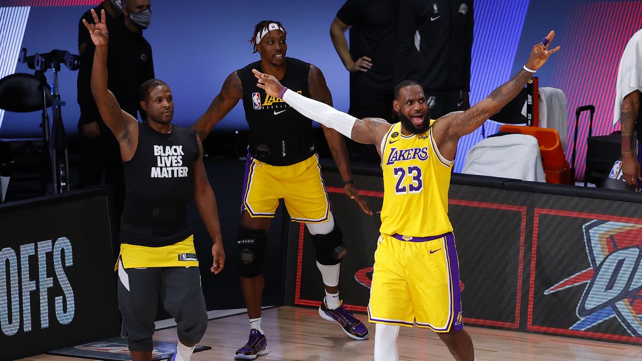
[[[620,107],[620,123],[622,125],[622,173],[624,180],[631,186],[638,184],[638,179],[642,180],[640,172],[640,163],[636,158],[634,148],[633,132],[636,127],[640,105],[640,91],[629,93],[622,100]]]

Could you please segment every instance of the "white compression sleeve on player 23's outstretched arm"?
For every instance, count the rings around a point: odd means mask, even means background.
[[[321,123],[325,125],[325,127],[333,128],[346,137],[352,137],[352,126],[354,122],[357,121],[357,118],[336,110],[320,101],[306,98],[290,89],[287,89],[283,94],[283,100],[288,103],[290,107],[297,110],[297,112],[300,112],[313,121]]]

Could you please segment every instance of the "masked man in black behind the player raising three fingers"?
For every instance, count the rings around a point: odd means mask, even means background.
[[[122,8],[116,3],[120,3]],[[105,0],[94,8],[96,13],[101,10],[105,10],[112,39],[107,60],[109,87],[123,110],[138,118],[138,89],[141,84],[154,78],[152,47],[143,37],[143,30],[150,24],[150,1]],[[85,12],[78,23],[78,51],[81,57],[78,69],[78,134],[81,139],[78,188],[99,184],[104,172],[105,182],[114,187],[117,216],[120,216],[125,199],[123,160],[116,137],[105,125],[91,96],[89,83],[95,46],[83,20],[93,21],[90,11]],[[141,118],[145,119],[142,110]]]

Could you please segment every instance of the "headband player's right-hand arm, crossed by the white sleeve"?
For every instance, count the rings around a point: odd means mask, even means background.
[[[310,64],[308,75],[308,90],[312,99],[321,101],[332,107],[332,94],[330,94],[330,89],[328,89],[327,84],[325,84],[323,73],[318,67],[312,64]],[[341,173],[344,182],[343,193],[351,199],[354,199],[361,209],[363,209],[364,213],[372,215],[372,211],[370,211],[365,201],[361,199],[354,186],[352,170],[350,169],[350,159],[348,158],[348,148],[345,146],[343,136],[333,128],[325,127],[325,125],[321,125],[321,127],[323,128],[325,140],[330,148],[330,152],[332,152],[334,163],[336,163],[337,168],[339,168],[339,173]]]

